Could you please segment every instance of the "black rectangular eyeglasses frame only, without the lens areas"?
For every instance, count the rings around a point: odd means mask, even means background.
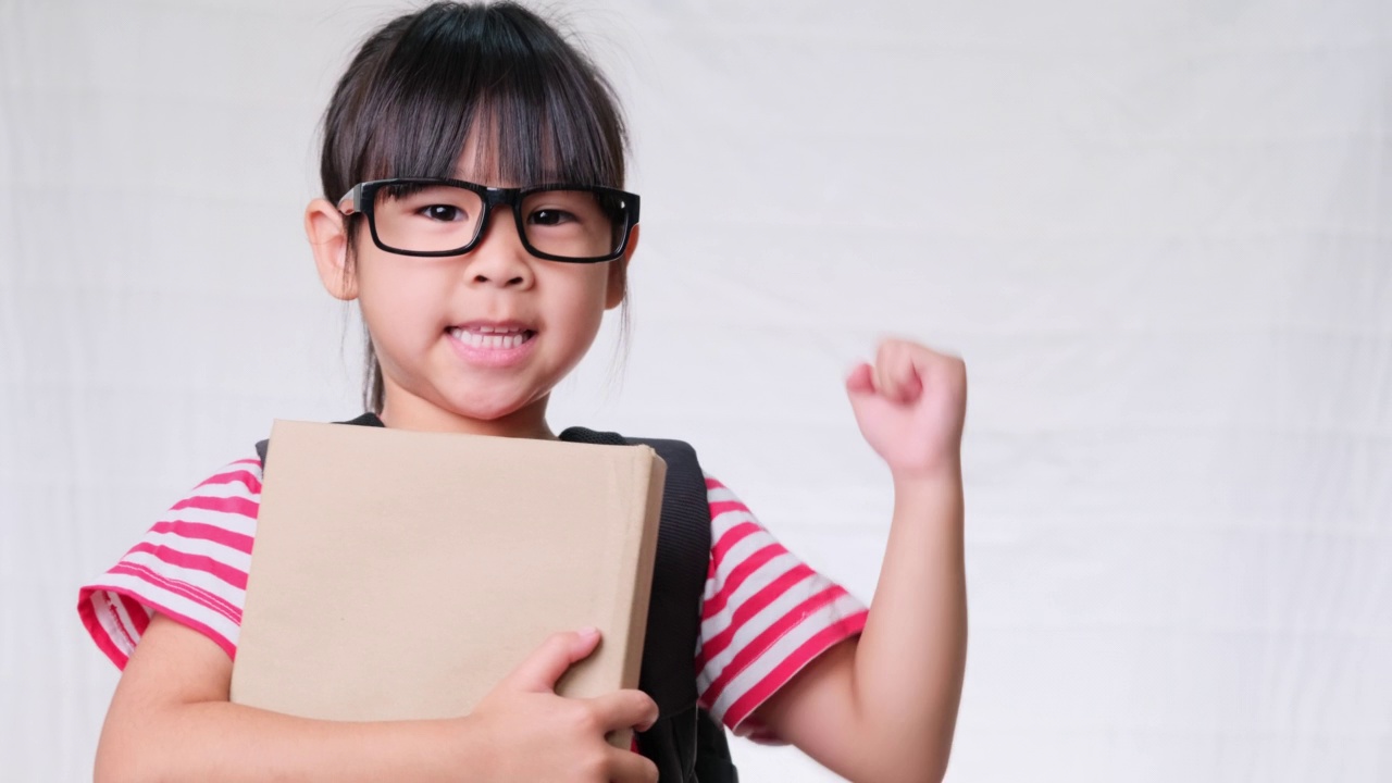
[[[451,185],[457,188],[464,188],[479,195],[483,202],[483,215],[479,216],[479,227],[473,234],[473,238],[461,248],[452,248],[445,251],[408,251],[402,248],[394,248],[381,241],[377,235],[377,216],[373,215],[373,205],[376,203],[377,191],[390,185]],[[624,234],[619,238],[618,248],[608,255],[597,255],[590,258],[569,258],[564,255],[555,255],[543,252],[535,247],[526,238],[526,227],[522,223],[522,199],[537,192],[547,191],[592,191],[600,195],[608,195],[619,199],[619,206],[624,209]],[[386,252],[397,255],[412,255],[412,256],[426,256],[426,258],[441,258],[451,255],[464,255],[479,245],[483,240],[483,233],[489,226],[489,217],[493,215],[494,206],[508,206],[512,212],[512,219],[516,222],[518,238],[522,240],[522,247],[536,258],[546,261],[560,261],[565,263],[603,263],[606,261],[615,261],[624,256],[628,249],[629,235],[633,231],[633,226],[638,226],[638,194],[631,194],[628,191],[621,191],[618,188],[610,188],[604,185],[576,185],[568,183],[554,183],[544,185],[533,185],[528,188],[491,188],[489,185],[480,185],[477,183],[469,183],[466,180],[452,180],[448,177],[393,177],[388,180],[367,180],[365,183],[358,183],[354,185],[342,198],[338,199],[338,212],[345,217],[352,215],[365,215],[367,217],[367,230],[372,233],[372,242]]]

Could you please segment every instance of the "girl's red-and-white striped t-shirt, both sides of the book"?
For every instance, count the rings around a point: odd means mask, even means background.
[[[81,589],[82,624],[113,663],[125,666],[155,612],[237,655],[260,479],[256,458],[220,470]],[[700,704],[736,734],[777,741],[749,716],[812,659],[859,634],[866,607],[774,541],[714,478],[706,476],[706,496],[711,553],[695,659]]]

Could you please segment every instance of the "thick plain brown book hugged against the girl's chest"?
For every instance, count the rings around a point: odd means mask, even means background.
[[[232,701],[459,716],[586,626],[558,692],[638,687],[665,472],[647,446],[277,421]]]

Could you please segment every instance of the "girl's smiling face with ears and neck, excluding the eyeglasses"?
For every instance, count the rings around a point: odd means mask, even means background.
[[[475,157],[465,150],[462,160]],[[515,185],[473,169],[461,164],[455,176]],[[344,249],[319,238],[333,238],[333,222],[341,234],[337,209],[316,199],[306,227],[320,276],[331,294],[356,298],[362,308],[381,365],[383,421],[533,437],[548,435],[551,389],[583,358],[604,311],[622,301],[638,238],[618,261],[544,261],[526,251],[512,215],[498,208],[479,244],[459,256],[387,252],[361,226],[344,269]]]

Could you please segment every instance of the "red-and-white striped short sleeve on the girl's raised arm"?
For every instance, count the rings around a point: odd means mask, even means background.
[[[750,715],[818,655],[857,635],[867,609],[798,560],[711,476],[706,493],[711,560],[696,655],[700,702],[735,734],[780,743]]]

